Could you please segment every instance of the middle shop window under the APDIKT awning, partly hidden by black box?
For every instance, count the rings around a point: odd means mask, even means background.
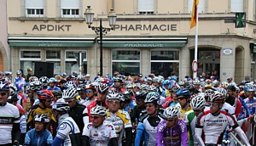
[[[46,50],[46,62],[54,63],[54,74],[61,72],[61,51]]]

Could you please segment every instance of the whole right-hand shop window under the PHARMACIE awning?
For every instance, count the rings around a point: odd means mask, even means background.
[[[178,76],[178,51],[151,51],[151,73],[155,76]]]

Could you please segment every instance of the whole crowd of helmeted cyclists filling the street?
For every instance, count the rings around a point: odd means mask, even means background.
[[[0,73],[0,145],[250,145],[237,121],[255,115],[254,81],[22,72]]]

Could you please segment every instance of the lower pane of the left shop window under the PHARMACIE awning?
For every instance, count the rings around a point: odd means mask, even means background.
[[[113,72],[118,71],[121,75],[137,76],[140,73],[139,62],[113,62]]]

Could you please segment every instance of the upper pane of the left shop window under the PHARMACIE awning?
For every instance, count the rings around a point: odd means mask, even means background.
[[[140,51],[113,50],[113,60],[140,60]]]

